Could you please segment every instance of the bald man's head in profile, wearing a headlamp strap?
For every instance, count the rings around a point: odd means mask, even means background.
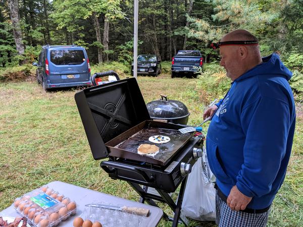
[[[223,36],[220,41],[252,40],[257,40],[257,38],[244,29],[237,29]],[[221,45],[220,54],[222,56],[220,65],[225,68],[227,77],[232,81],[262,63],[259,45]]]

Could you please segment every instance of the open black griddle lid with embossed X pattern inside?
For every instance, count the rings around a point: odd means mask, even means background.
[[[135,78],[86,88],[75,94],[94,159],[107,157],[105,143],[150,120]]]

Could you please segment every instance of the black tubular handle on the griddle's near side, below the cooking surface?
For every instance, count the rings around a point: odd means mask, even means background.
[[[141,169],[136,168],[134,166],[125,165],[123,163],[117,163],[117,162],[112,162],[112,161],[102,161],[100,163],[100,167],[102,167],[104,169],[104,171],[107,172],[108,174],[115,173],[117,169],[124,169],[126,171],[134,172],[136,174],[141,175],[142,178],[147,183],[151,183],[151,182],[155,181],[155,178],[153,176],[148,177],[145,172],[141,171]]]

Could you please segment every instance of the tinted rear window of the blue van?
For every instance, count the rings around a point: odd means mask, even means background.
[[[80,65],[85,61],[83,50],[51,50],[51,62],[55,65]]]

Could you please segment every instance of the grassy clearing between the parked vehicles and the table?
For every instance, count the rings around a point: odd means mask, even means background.
[[[191,125],[201,122],[204,104],[212,97],[211,93],[201,92],[199,79],[171,79],[164,73],[158,78],[138,77],[138,83],[145,102],[159,99],[159,94],[182,101],[191,113]],[[74,101],[76,92],[45,93],[34,81],[0,84],[0,210],[10,206],[14,198],[52,181],[138,201],[138,195],[126,182],[111,180],[99,167],[99,161],[93,160]],[[302,226],[302,141],[303,107],[297,104],[292,156],[268,226]],[[172,214],[166,205],[161,206]],[[215,226],[213,222],[190,223]],[[160,222],[160,226],[171,224]]]

